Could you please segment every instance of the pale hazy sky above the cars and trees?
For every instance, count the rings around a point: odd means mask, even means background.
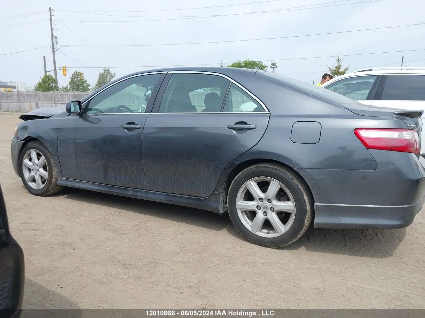
[[[399,66],[402,56],[405,66],[425,65],[423,0],[0,0],[0,81],[34,86],[44,75],[43,56],[53,70],[49,7],[59,86],[75,70],[94,85],[102,67],[121,77],[251,59],[317,83],[338,54],[349,71]],[[363,29],[375,30],[345,32]],[[182,44],[199,42],[215,43]]]

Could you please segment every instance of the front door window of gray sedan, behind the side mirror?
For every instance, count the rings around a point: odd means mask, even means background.
[[[132,77],[90,100],[86,114],[144,113],[161,74]]]

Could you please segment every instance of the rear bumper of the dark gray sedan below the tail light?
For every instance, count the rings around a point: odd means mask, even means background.
[[[425,158],[371,150],[376,170],[296,169],[314,197],[316,228],[394,229],[425,202]]]

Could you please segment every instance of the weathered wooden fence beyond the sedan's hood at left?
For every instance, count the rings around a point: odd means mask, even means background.
[[[65,105],[89,95],[82,92],[0,92],[0,112],[29,112],[38,108]]]

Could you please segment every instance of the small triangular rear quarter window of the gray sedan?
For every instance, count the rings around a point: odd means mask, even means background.
[[[223,112],[265,112],[265,110],[257,100],[232,83]]]

